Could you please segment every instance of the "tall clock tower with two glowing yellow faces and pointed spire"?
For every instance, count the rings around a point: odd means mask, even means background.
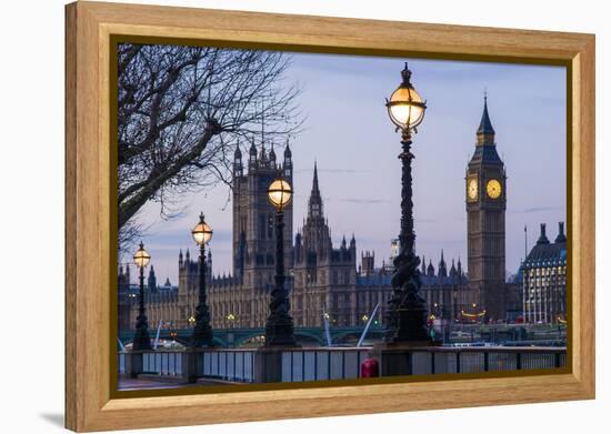
[[[465,176],[470,291],[463,302],[469,310],[485,310],[490,319],[504,319],[507,176],[497,152],[487,97],[477,137]]]

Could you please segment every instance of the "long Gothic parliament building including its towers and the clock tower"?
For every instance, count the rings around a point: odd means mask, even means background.
[[[505,282],[505,203],[507,178],[494,142],[494,130],[484,100],[473,155],[465,172],[468,271],[460,259],[445,262],[440,252],[437,268],[421,259],[421,294],[434,317],[455,320],[461,315],[485,312],[491,319],[504,319],[514,306],[521,310],[521,287]],[[246,161],[244,161],[246,160]],[[210,250],[207,256],[208,305],[213,329],[263,327],[269,315],[270,292],[274,284],[274,209],[267,189],[282,171],[293,180],[292,152],[287,144],[282,159],[273,147],[259,149],[251,142],[248,158],[238,148],[233,158],[232,251],[233,270],[214,275]],[[331,240],[330,222],[324,214],[322,181],[314,163],[308,212],[293,233],[293,204],[286,209],[284,264],[296,326],[363,325],[378,305],[375,324],[382,325],[391,296],[390,262],[374,266],[374,253],[357,254],[354,234],[339,245]],[[332,205],[332,204],[331,204]],[[397,249],[391,249],[391,252]],[[160,322],[171,327],[191,326],[198,303],[199,265],[189,251],[178,253],[178,286],[157,284],[154,269],[149,270],[147,315],[151,327]],[[137,287],[130,285],[129,268],[119,270],[119,327],[136,324]]]

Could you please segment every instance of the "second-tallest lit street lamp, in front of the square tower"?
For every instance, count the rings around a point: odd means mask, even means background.
[[[268,199],[276,208],[276,285],[271,292],[270,315],[266,323],[266,346],[297,345],[289,292],[284,287],[284,206],[293,195],[291,185],[282,178],[268,189]]]

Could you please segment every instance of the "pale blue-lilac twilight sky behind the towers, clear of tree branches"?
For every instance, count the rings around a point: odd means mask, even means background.
[[[375,252],[388,262],[399,233],[400,134],[384,98],[400,83],[404,59],[293,54],[288,79],[303,88],[298,103],[308,117],[292,142],[296,190],[293,228],[302,225],[314,160],[333,244],[354,232],[358,258]],[[410,60],[412,83],[428,110],[412,145],[417,254],[467,268],[464,171],[475,147],[483,91],[499,155],[507,169],[507,270],[514,273],[548,223],[553,241],[567,210],[565,69],[480,62]],[[242,153],[248,155],[246,150]],[[277,148],[277,153],[278,148]],[[281,153],[280,153],[281,154]],[[178,283],[178,252],[196,251],[190,231],[201,209],[214,230],[213,273],[231,271],[231,202],[228,189],[186,195],[183,213],[164,221],[154,204],[140,218],[158,281]],[[123,259],[124,260],[124,259]],[[136,275],[136,274],[133,274]]]

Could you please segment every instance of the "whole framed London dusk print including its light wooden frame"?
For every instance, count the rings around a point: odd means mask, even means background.
[[[594,396],[593,36],[66,13],[67,427]]]

